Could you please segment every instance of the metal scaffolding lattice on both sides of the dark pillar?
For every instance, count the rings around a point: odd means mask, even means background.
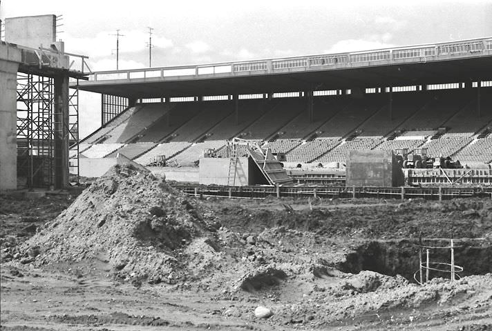
[[[69,120],[56,113],[55,79],[35,74],[17,73],[17,176],[28,188],[50,188],[56,184],[56,141],[62,141],[68,132],[70,167],[78,181],[79,113],[78,89],[69,95]],[[68,128],[66,126],[68,125]],[[76,151],[76,152],[75,152]],[[59,167],[59,165],[58,165]]]

